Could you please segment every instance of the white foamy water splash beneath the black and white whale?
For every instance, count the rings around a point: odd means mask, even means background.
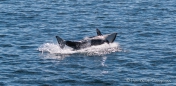
[[[41,51],[42,53],[48,52],[51,54],[58,54],[58,55],[84,54],[84,55],[88,55],[88,56],[105,55],[105,54],[109,54],[111,52],[121,51],[118,43],[110,43],[110,44],[105,43],[102,45],[91,46],[88,48],[75,50],[75,51],[73,51],[73,49],[68,46],[65,46],[63,49],[61,49],[58,44],[45,43],[45,44],[41,45],[38,48],[38,50]]]

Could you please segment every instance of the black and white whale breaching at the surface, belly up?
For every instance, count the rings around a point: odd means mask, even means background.
[[[80,41],[65,41],[59,36],[56,36],[59,46],[63,49],[65,45],[73,48],[74,50],[79,50],[91,46],[101,45],[104,43],[114,42],[117,33],[111,33],[102,35],[100,30],[96,29],[97,36],[88,37]]]

